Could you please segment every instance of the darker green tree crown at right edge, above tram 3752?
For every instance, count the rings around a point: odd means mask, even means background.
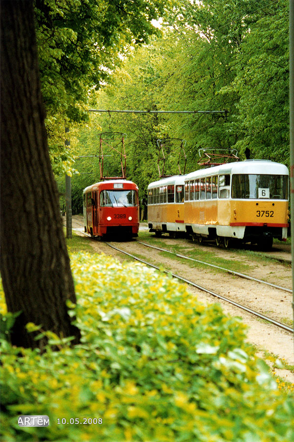
[[[288,2],[268,10],[246,35],[232,90],[240,101],[236,147],[289,166]]]

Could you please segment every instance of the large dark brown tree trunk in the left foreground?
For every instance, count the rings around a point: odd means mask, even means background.
[[[80,336],[44,116],[32,1],[1,0],[1,276],[8,311],[22,311],[12,343],[24,347],[45,343],[28,322]]]

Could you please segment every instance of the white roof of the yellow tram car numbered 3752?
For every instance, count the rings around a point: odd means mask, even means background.
[[[275,163],[270,160],[245,160],[195,170],[194,172],[188,173],[185,176],[185,181],[202,176],[231,173],[253,175],[289,175],[289,170],[285,165]]]

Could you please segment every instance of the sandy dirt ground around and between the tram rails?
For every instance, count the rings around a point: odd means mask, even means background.
[[[76,233],[82,235],[82,217],[73,217],[73,228],[77,229]],[[140,225],[140,230],[148,231],[145,224]],[[150,234],[154,237],[153,234]],[[163,238],[163,237],[162,237]],[[107,244],[90,239],[90,244],[97,251],[97,253],[105,253],[114,256],[120,261],[125,261],[126,257],[114,249],[110,249]],[[191,248],[203,248],[206,246],[199,246],[184,239],[169,239],[164,238],[166,246],[169,244],[181,244],[185,249],[181,250],[181,254],[185,255],[185,250]],[[270,286],[261,284],[255,281],[249,281],[238,276],[233,276],[225,272],[219,272],[209,267],[192,268],[184,260],[176,260],[172,257],[162,256],[157,250],[144,247],[138,244],[136,240],[130,242],[111,242],[111,245],[123,249],[131,254],[139,254],[144,256],[146,261],[149,261],[162,268],[168,269],[177,275],[186,277],[187,279],[196,282],[213,290],[214,292],[231,298],[239,304],[246,305],[253,310],[262,312],[264,315],[276,319],[280,322],[290,324],[293,319],[292,309],[292,293],[272,288]],[[160,246],[162,247],[162,246]],[[212,246],[208,246],[212,247]],[[231,250],[213,248],[216,256],[223,257],[227,260],[239,260],[249,266],[249,271],[244,272],[250,276],[258,279],[263,279],[282,287],[292,287],[292,272],[291,267],[285,265],[283,262],[275,260],[260,261],[260,259],[245,255]],[[289,260],[289,252],[287,249],[275,249],[267,254],[274,255],[281,252],[285,253],[285,260]],[[283,259],[282,259],[283,261]],[[267,323],[264,320],[254,317],[252,314],[235,307],[234,305],[225,303],[219,299],[215,299],[212,295],[204,293],[191,286],[187,287],[193,296],[197,296],[198,300],[203,304],[219,303],[222,305],[224,312],[230,316],[239,316],[247,326],[247,340],[254,344],[259,350],[260,355],[270,353],[284,360],[290,365],[294,365],[294,340],[293,335],[287,331],[277,329],[275,326]],[[294,383],[294,372],[289,370],[278,370],[275,372],[285,380]]]

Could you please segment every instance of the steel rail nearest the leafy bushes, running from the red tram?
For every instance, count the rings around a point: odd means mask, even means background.
[[[114,250],[117,250],[117,251],[119,251],[121,253],[124,253],[125,255],[128,255],[128,256],[134,258],[136,261],[139,261],[139,262],[142,262],[143,264],[146,264],[147,266],[153,267],[153,268],[155,268],[157,270],[162,270],[162,269],[160,269],[160,267],[156,266],[155,264],[151,264],[148,261],[144,261],[143,259],[137,258],[136,256],[132,255],[131,253],[126,252],[126,251],[124,251],[122,249],[118,249],[117,247],[114,247],[114,246],[112,246],[111,244],[109,244],[107,242],[105,242],[104,244],[107,244],[107,246],[109,246],[110,248],[112,248]],[[265,319],[266,321],[268,321],[271,324],[279,327],[280,329],[283,329],[285,331],[290,331],[291,333],[294,332],[294,329],[292,329],[291,327],[289,327],[289,326],[287,326],[285,324],[282,324],[281,322],[276,321],[275,319],[269,318],[268,316],[264,315],[263,313],[259,313],[259,312],[255,311],[255,310],[252,310],[249,307],[246,307],[245,305],[239,304],[236,301],[233,301],[233,300],[231,300],[229,298],[226,298],[225,296],[219,295],[218,293],[215,293],[215,292],[213,292],[212,290],[210,290],[210,289],[208,289],[206,287],[202,287],[201,285],[198,285],[195,282],[190,281],[189,279],[184,278],[183,276],[176,275],[174,273],[169,272],[168,270],[163,270],[163,272],[165,272],[167,274],[171,274],[174,278],[177,278],[177,279],[179,279],[181,281],[184,281],[187,284],[197,288],[198,290],[201,290],[203,292],[209,293],[210,295],[214,296],[215,298],[221,299],[222,301],[225,301],[225,302],[227,302],[229,304],[233,304],[236,307],[241,308],[242,310],[247,311],[248,313],[251,313],[251,314],[253,314],[253,315],[255,315],[255,316],[257,316],[257,317],[259,317],[261,319]]]

